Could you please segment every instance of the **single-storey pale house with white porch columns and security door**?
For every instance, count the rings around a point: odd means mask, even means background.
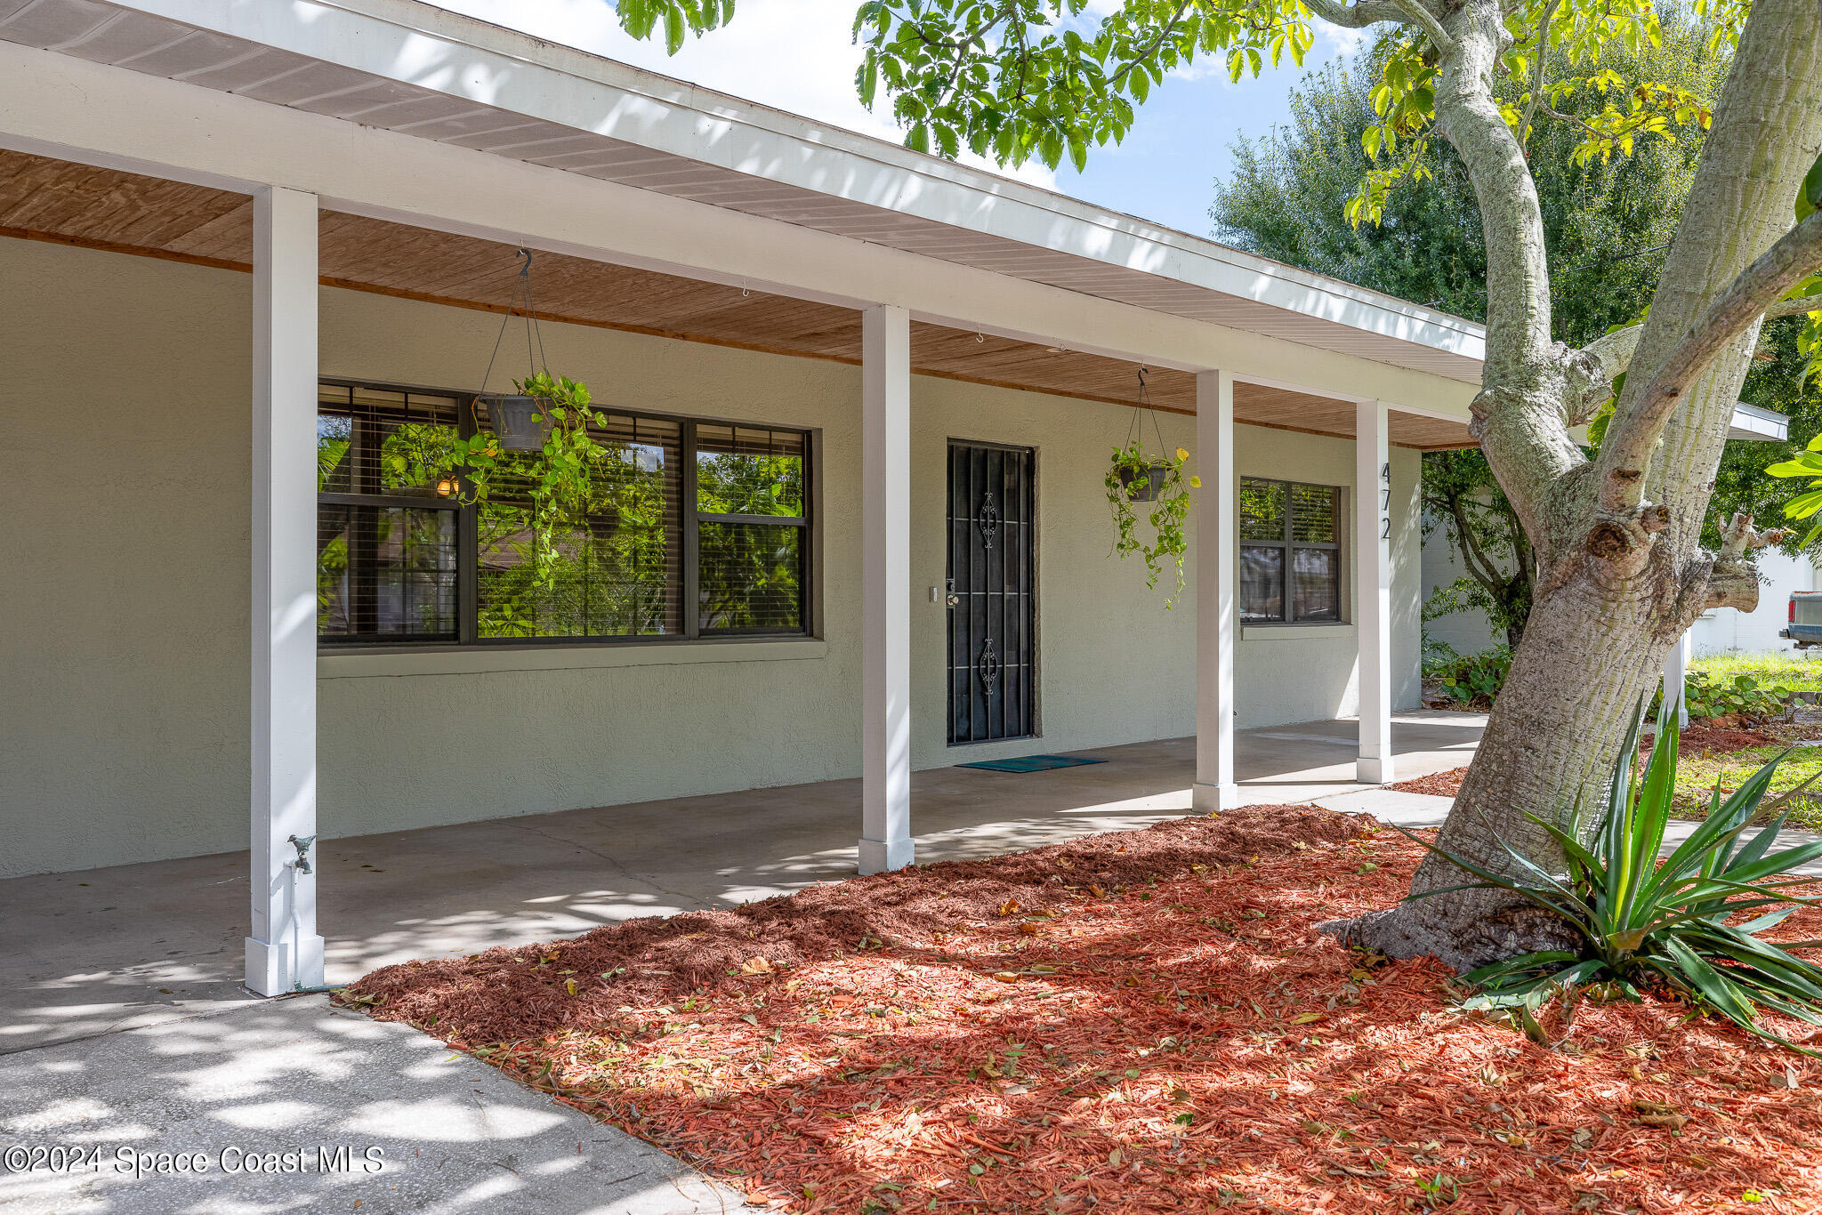
[[[1212,809],[1235,725],[1357,714],[1390,778],[1478,326],[412,0],[0,0],[0,876],[251,807],[275,993],[319,834],[858,776],[876,871],[962,760],[1195,734]],[[561,594],[399,452],[488,424],[521,246],[640,503]]]

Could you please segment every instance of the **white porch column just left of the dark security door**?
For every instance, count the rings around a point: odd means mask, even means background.
[[[860,873],[911,863],[911,313],[860,317]]]

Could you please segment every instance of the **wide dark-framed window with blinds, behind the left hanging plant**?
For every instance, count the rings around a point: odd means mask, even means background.
[[[599,408],[599,406],[598,406]],[[811,632],[811,435],[601,410],[594,492],[532,521],[536,452],[468,501],[456,393],[326,383],[317,410],[324,645],[510,645]]]

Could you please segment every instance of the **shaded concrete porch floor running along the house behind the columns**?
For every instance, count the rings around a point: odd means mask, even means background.
[[[1467,763],[1483,723],[1397,714],[1399,778]],[[1243,800],[1363,789],[1354,745],[1354,721],[1243,730]],[[1106,763],[916,772],[918,860],[1009,853],[1190,811],[1195,740],[1077,754]],[[328,980],[838,880],[855,873],[858,805],[860,781],[838,780],[326,840]],[[220,853],[0,882],[0,1055],[250,1002],[246,873],[246,853]]]

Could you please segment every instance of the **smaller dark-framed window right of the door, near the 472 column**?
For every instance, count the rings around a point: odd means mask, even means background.
[[[1341,621],[1341,490],[1241,477],[1241,621]]]

